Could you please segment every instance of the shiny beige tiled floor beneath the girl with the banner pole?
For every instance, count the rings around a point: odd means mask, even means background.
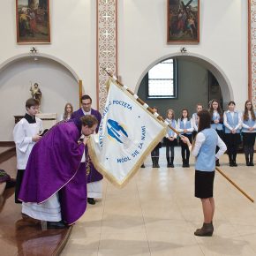
[[[215,233],[195,237],[202,224],[200,200],[193,197],[191,168],[181,167],[177,148],[175,168],[168,169],[161,152],[161,168],[139,169],[124,189],[104,180],[103,199],[75,224],[63,256],[132,255],[256,255],[256,203],[247,200],[219,173],[215,175]],[[237,168],[220,167],[253,199],[256,199],[256,166],[246,167],[243,154]]]

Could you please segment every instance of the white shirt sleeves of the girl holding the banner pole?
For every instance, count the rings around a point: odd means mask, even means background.
[[[205,134],[203,132],[199,132],[197,134],[197,138],[196,138],[195,145],[194,145],[193,149],[192,149],[192,146],[189,147],[189,150],[192,151],[193,156],[196,157],[200,153],[200,148],[201,148],[202,144],[205,142],[205,140],[206,140]],[[220,147],[220,149],[218,150],[217,154],[215,154],[215,158],[219,159],[220,156],[222,154],[224,154],[225,151],[227,150],[226,144],[219,137],[219,135],[218,135],[217,146]]]

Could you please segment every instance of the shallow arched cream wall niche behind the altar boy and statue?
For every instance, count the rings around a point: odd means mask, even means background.
[[[41,88],[41,113],[56,113],[60,119],[64,105],[71,102],[79,109],[79,75],[62,60],[45,54],[21,54],[0,64],[0,141],[12,141],[14,117],[26,113],[30,87]]]

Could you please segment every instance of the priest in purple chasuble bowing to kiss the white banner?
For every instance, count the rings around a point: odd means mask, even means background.
[[[19,192],[22,213],[48,229],[76,222],[87,208],[87,139],[98,121],[88,115],[56,124],[35,144]],[[84,135],[82,142],[79,142]]]

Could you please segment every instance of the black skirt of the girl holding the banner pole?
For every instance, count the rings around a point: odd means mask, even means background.
[[[195,171],[195,197],[208,199],[214,196],[215,171]]]

